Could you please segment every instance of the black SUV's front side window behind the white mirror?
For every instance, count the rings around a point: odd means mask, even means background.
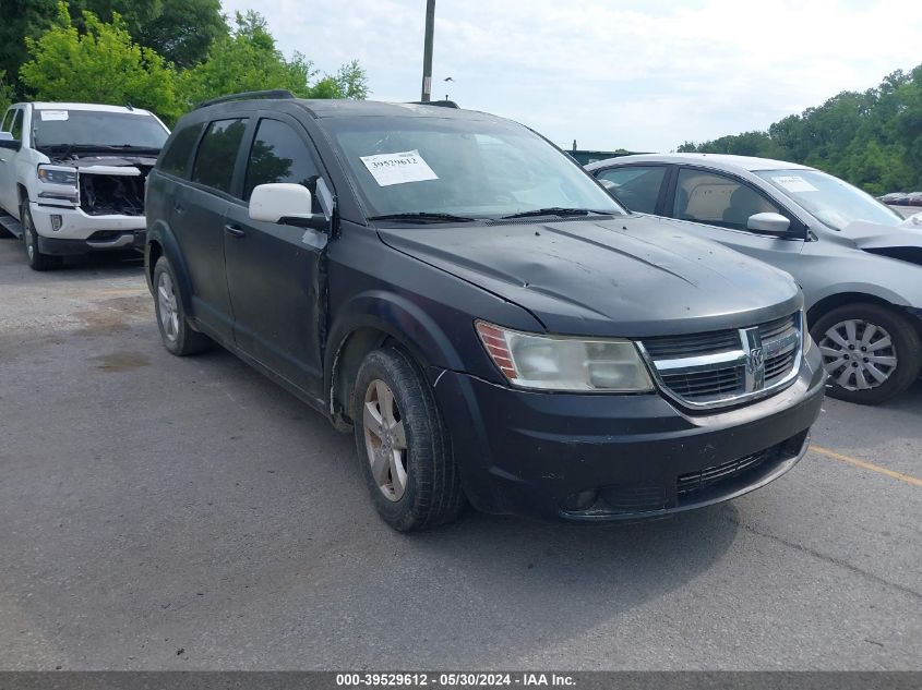
[[[295,130],[278,120],[260,120],[247,161],[244,202],[259,184],[288,182],[302,184],[314,192],[318,175],[311,152]]]

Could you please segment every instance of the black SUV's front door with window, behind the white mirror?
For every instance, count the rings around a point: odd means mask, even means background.
[[[322,387],[319,263],[327,234],[251,220],[249,201],[259,184],[287,182],[315,191],[319,160],[310,137],[294,118],[262,117],[249,146],[241,198],[225,211],[227,283],[237,346],[312,395]]]

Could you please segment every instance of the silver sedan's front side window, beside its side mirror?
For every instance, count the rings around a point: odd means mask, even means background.
[[[745,230],[753,214],[781,213],[766,196],[731,178],[683,168],[675,185],[673,218]]]

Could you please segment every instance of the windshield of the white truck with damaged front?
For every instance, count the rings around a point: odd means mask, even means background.
[[[35,148],[100,146],[163,147],[169,132],[149,114],[99,110],[36,110],[32,123]]]

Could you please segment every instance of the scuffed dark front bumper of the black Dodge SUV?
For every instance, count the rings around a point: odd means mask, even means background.
[[[480,510],[584,521],[655,518],[741,496],[806,450],[819,352],[758,402],[706,414],[659,395],[540,394],[444,372],[435,395]]]

